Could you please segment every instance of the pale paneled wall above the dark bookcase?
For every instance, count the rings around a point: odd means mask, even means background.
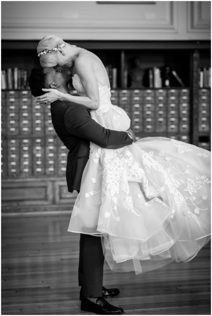
[[[65,40],[207,40],[210,2],[2,2],[2,39],[39,40],[46,34]]]

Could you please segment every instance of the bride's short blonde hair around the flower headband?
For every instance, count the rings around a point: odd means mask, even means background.
[[[46,35],[40,40],[37,46],[37,53],[40,54],[44,50],[52,50],[54,47],[65,43],[60,37],[56,35]],[[42,67],[55,67],[57,65],[57,51],[40,56],[40,63]]]

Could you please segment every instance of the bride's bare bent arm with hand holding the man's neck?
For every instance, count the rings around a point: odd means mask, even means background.
[[[84,105],[92,110],[98,109],[99,89],[95,74],[93,72],[92,61],[90,60],[90,57],[77,58],[74,65],[87,96],[84,97],[65,94],[56,89],[42,89],[48,93],[36,97],[35,100],[39,104],[45,104],[47,102],[51,103],[59,99]]]

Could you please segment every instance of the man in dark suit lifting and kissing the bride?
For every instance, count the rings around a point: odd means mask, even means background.
[[[55,88],[69,94],[70,75],[55,68],[34,68],[29,76],[32,95],[44,94],[42,88]],[[80,190],[83,170],[89,158],[90,142],[108,149],[132,144],[133,133],[105,129],[93,119],[89,110],[73,102],[57,100],[51,103],[55,131],[69,149],[66,180],[68,191]],[[105,289],[103,283],[104,255],[101,238],[80,234],[79,286],[81,310],[97,314],[122,314],[121,307],[109,304],[105,298],[118,295],[118,289]]]

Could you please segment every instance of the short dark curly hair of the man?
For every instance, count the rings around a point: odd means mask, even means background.
[[[31,94],[34,97],[42,95],[46,92],[42,91],[42,88],[46,87],[47,75],[44,74],[43,68],[33,68],[28,78],[28,86],[31,90]]]

